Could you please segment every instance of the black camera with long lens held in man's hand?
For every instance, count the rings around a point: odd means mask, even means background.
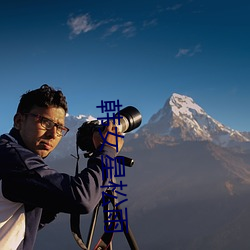
[[[130,132],[141,125],[142,116],[140,112],[133,106],[128,106],[118,113],[113,118],[118,131],[121,133]],[[113,123],[114,123],[113,122]],[[93,133],[95,131],[104,131],[105,125],[101,124],[100,120],[87,121],[78,128],[76,134],[76,144],[82,151],[88,153],[95,151],[95,146],[92,141]]]

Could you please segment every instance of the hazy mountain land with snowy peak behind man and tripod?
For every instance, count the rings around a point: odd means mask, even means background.
[[[49,157],[50,165],[74,173],[70,154],[75,154],[75,133],[86,119],[93,117],[67,117],[71,133]],[[125,140],[121,154],[135,161],[123,180],[126,207],[140,249],[250,249],[248,132],[213,119],[191,97],[173,94]],[[37,250],[79,249],[67,216],[47,230],[41,232]],[[63,240],[53,244],[55,230]],[[115,235],[114,246],[129,249],[122,233]]]

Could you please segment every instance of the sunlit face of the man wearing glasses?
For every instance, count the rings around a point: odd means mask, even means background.
[[[29,114],[40,115],[62,126],[66,115],[63,108],[53,106],[49,108],[35,106]],[[58,136],[56,126],[45,129],[39,118],[29,114],[17,114],[14,118],[15,127],[19,130],[25,146],[45,158],[55,149],[62,137]]]

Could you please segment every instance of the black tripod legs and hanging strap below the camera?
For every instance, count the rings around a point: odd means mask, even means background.
[[[107,190],[111,195],[112,195],[112,191],[111,190]],[[77,244],[79,245],[79,247],[81,249],[84,250],[90,250],[91,248],[91,244],[92,244],[92,239],[93,239],[93,235],[94,235],[94,230],[96,227],[96,222],[97,222],[97,216],[98,216],[98,212],[99,212],[99,208],[101,206],[101,204],[103,203],[103,201],[101,200],[97,206],[95,207],[93,214],[92,214],[92,219],[91,219],[91,225],[89,228],[89,234],[88,234],[88,238],[87,238],[87,244],[85,245],[85,243],[83,242],[82,236],[81,236],[81,232],[80,232],[80,214],[71,214],[70,216],[70,226],[71,226],[71,231],[73,234],[74,239],[76,240]],[[104,222],[105,222],[105,229],[110,229],[110,231],[106,231],[103,233],[102,237],[100,238],[100,240],[98,241],[98,243],[96,244],[96,246],[93,248],[94,250],[112,250],[112,239],[114,236],[114,228],[116,226],[116,222],[114,220],[114,214],[113,213],[113,218],[112,220],[110,220],[109,222],[109,214],[107,213],[107,211],[109,210],[109,205],[110,203],[113,205],[114,210],[112,211],[118,211],[117,212],[117,216],[119,218],[119,221],[122,222],[122,231],[125,234],[125,237],[128,241],[128,244],[130,246],[130,248],[132,250],[139,250],[139,247],[137,246],[136,240],[133,236],[133,233],[128,225],[128,222],[126,221],[124,215],[122,215],[122,213],[120,213],[119,211],[121,211],[121,206],[115,204],[115,201],[113,198],[110,197],[105,197],[105,203],[103,205],[103,214],[104,214]]]

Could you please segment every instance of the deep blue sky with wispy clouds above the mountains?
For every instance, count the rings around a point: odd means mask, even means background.
[[[0,133],[21,94],[48,83],[69,113],[101,100],[137,107],[143,123],[172,93],[250,131],[250,2],[24,0],[0,3]]]

